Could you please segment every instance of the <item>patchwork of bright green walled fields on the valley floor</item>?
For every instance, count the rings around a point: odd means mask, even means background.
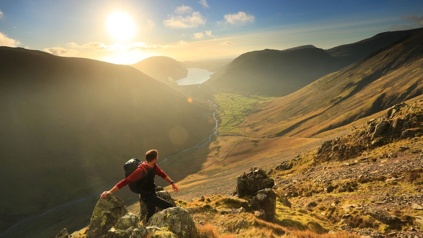
[[[273,100],[273,97],[242,96],[239,94],[214,94],[217,116],[220,119],[217,131],[220,135],[244,135],[239,125],[244,117],[256,113]]]

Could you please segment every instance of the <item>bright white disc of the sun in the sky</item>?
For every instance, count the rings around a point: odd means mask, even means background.
[[[107,31],[114,40],[129,41],[134,38],[137,27],[130,14],[123,11],[115,11],[107,17]]]

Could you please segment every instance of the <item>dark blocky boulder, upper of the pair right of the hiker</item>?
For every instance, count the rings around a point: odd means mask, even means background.
[[[266,171],[257,167],[236,178],[238,197],[250,195],[265,188],[272,188],[274,185],[275,181],[266,175]]]

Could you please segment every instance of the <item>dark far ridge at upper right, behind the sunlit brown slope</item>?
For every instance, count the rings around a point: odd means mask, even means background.
[[[387,31],[379,33],[368,39],[364,39],[359,42],[352,44],[343,44],[337,47],[326,50],[330,55],[338,58],[344,66],[354,63],[355,61],[363,58],[371,52],[380,49],[388,44],[391,44],[398,39],[408,36],[412,33],[421,31],[423,28],[412,29],[412,30],[398,30],[398,31]]]

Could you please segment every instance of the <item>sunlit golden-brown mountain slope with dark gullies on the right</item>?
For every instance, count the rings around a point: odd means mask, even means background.
[[[422,94],[423,31],[274,100],[241,128],[251,137],[310,137]]]

